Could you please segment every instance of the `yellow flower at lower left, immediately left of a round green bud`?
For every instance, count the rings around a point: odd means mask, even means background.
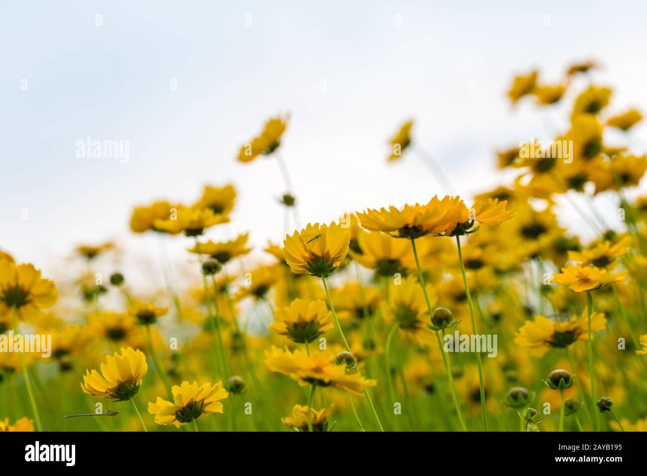
[[[229,396],[218,381],[214,385],[183,381],[181,385],[173,385],[173,402],[157,397],[155,403],[148,403],[148,413],[155,415],[155,423],[159,425],[175,425],[179,428],[186,423],[197,420],[202,414],[223,413],[223,403]]]

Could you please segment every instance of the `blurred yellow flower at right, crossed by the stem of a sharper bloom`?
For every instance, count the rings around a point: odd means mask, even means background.
[[[592,334],[606,329],[606,323],[603,313],[591,313]],[[541,357],[551,348],[565,348],[577,341],[587,341],[588,330],[586,308],[579,317],[573,315],[567,322],[555,322],[536,315],[534,321],[526,321],[521,326],[514,343],[527,348],[532,356]]]

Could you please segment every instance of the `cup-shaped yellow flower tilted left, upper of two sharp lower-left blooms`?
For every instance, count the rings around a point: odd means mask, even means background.
[[[101,364],[102,375],[96,370],[85,370],[81,388],[96,398],[121,402],[137,394],[146,372],[148,364],[144,353],[122,347],[120,353],[105,357],[105,363]]]

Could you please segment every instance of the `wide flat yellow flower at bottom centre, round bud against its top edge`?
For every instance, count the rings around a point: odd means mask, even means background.
[[[337,365],[335,356],[329,351],[311,351],[308,356],[305,350],[291,352],[272,346],[265,351],[265,365],[272,372],[290,376],[302,387],[313,384],[321,387],[338,389],[361,395],[366,387],[375,387],[377,380],[362,377],[358,372],[348,372],[345,365]]]

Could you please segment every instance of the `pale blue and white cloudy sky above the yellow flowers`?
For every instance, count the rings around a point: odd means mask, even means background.
[[[190,203],[226,183],[238,192],[232,223],[210,237],[279,242],[277,164],[235,157],[284,113],[302,225],[448,192],[415,155],[386,163],[409,118],[415,144],[469,198],[505,179],[496,150],[565,124],[559,108],[510,107],[515,73],[536,67],[556,82],[597,60],[609,108],[647,111],[645,17],[633,0],[2,0],[0,249],[45,271],[105,240],[156,258],[151,236],[129,232],[133,207]],[[77,157],[87,137],[127,141],[129,160]],[[583,228],[570,214],[560,219]],[[173,259],[186,245],[170,243]]]

